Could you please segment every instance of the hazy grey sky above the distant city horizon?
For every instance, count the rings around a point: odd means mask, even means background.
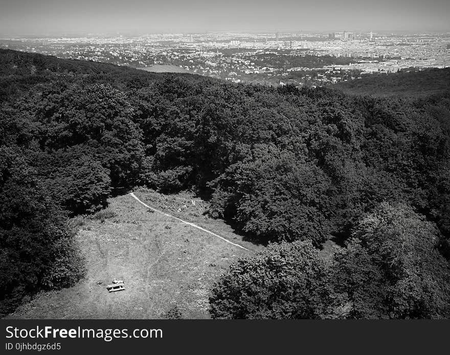
[[[0,0],[0,34],[445,31],[450,0]]]

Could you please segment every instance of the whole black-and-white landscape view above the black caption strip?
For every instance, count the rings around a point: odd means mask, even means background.
[[[0,317],[450,318],[450,3],[0,4]]]

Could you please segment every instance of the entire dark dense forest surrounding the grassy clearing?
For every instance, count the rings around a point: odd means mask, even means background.
[[[267,245],[217,280],[212,318],[449,318],[449,135],[445,87],[376,98],[0,50],[0,315],[83,277],[71,217],[147,186]]]

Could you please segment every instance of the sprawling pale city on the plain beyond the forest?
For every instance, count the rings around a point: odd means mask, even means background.
[[[450,33],[89,34],[0,38],[0,48],[269,86],[450,66]]]

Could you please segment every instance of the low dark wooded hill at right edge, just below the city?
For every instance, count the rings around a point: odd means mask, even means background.
[[[361,79],[336,83],[332,88],[348,94],[369,94],[374,97],[425,97],[450,91],[450,68],[375,73]]]

